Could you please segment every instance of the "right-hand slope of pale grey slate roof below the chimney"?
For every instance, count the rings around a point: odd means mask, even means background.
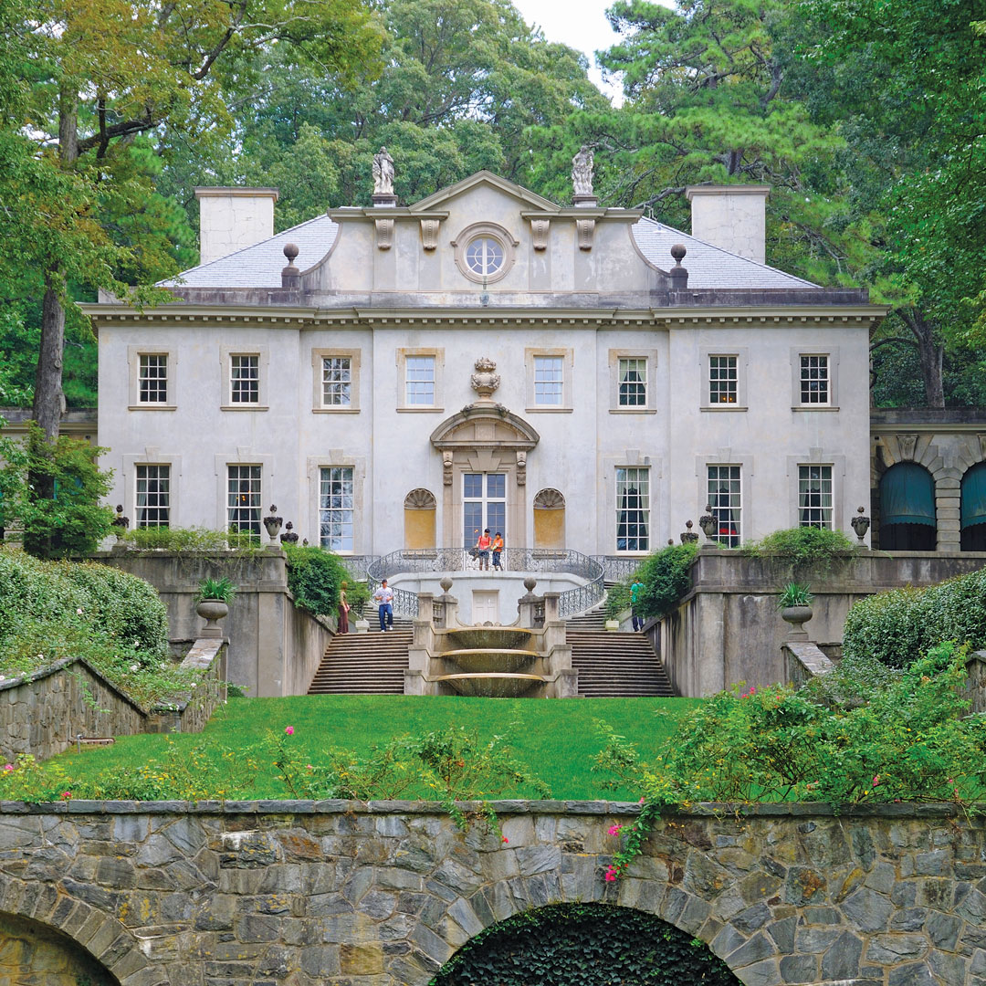
[[[702,240],[675,230],[654,219],[641,219],[633,228],[633,238],[640,251],[651,263],[662,270],[669,270],[674,263],[671,246],[683,244],[688,252],[681,266],[688,271],[688,289],[747,288],[754,290],[772,288],[814,288],[817,285],[793,274],[785,274],[776,267],[747,260],[729,250],[712,246]]]

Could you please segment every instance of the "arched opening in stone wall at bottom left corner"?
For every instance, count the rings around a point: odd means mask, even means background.
[[[48,925],[0,914],[0,983],[119,986],[88,951]]]

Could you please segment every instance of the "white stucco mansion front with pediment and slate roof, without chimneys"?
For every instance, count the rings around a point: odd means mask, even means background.
[[[478,502],[508,546],[594,555],[677,540],[704,513],[710,466],[737,467],[715,475],[733,477],[742,539],[806,520],[809,466],[821,523],[848,530],[869,503],[883,310],[637,213],[562,208],[480,173],[409,208],[335,210],[173,290],[143,314],[89,307],[103,464],[137,523],[225,528],[241,465],[259,516],[276,504],[302,537],[356,555],[427,546],[429,525],[438,546],[467,540],[470,476],[504,477],[493,507],[486,486]],[[472,384],[480,358],[499,377],[488,393]]]

